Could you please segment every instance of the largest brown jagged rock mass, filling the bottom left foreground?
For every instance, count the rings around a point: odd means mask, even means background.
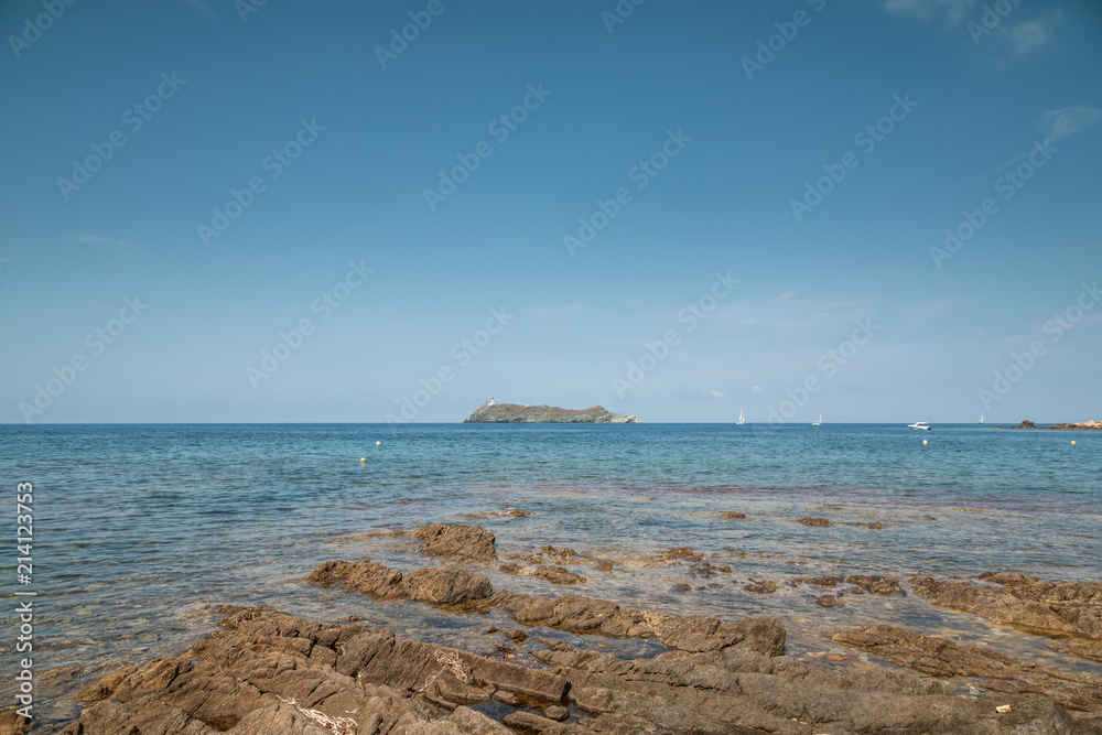
[[[486,701],[498,690],[554,704],[569,687],[547,671],[359,623],[320,625],[267,608],[241,608],[223,626],[185,656],[118,672],[121,678],[112,674],[102,685],[109,696],[63,732],[332,735],[338,731],[323,726],[327,717],[355,722],[346,732],[504,735],[509,731],[499,723],[456,706]]]

